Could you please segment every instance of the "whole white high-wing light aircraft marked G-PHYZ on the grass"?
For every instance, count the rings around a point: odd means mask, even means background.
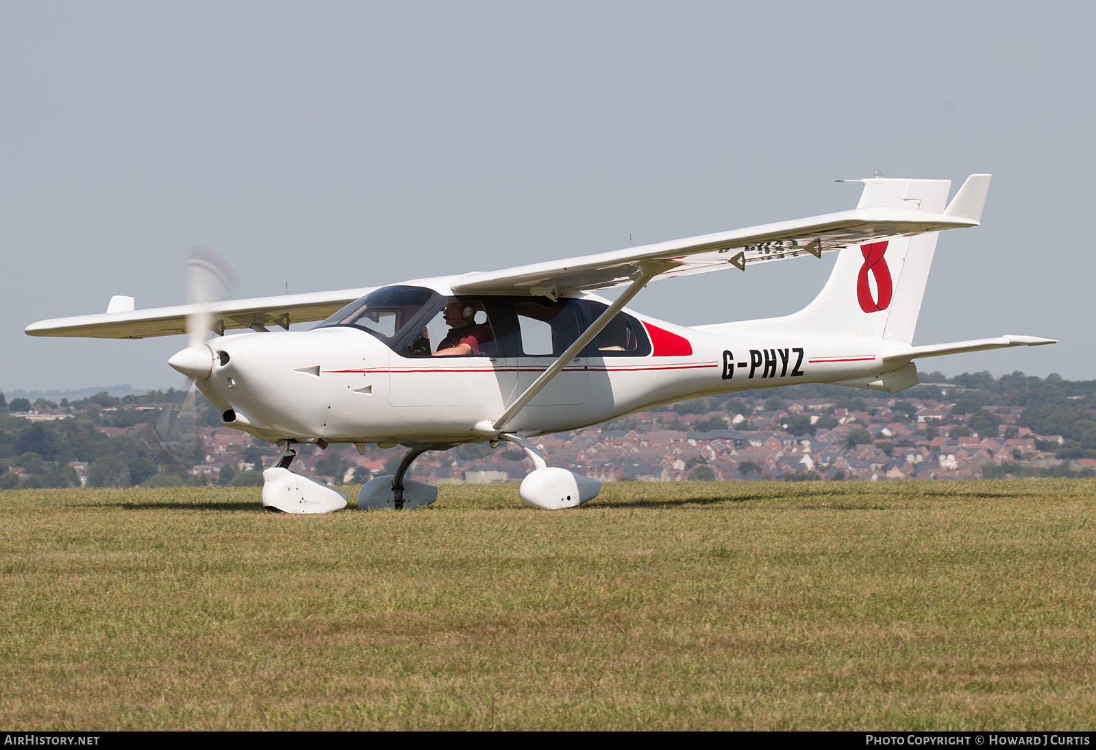
[[[979,225],[990,175],[970,175],[950,203],[949,180],[876,173],[858,182],[853,211],[381,287],[222,302],[224,271],[196,252],[186,305],[137,310],[114,297],[105,314],[43,320],[26,333],[187,333],[169,364],[226,425],[282,446],[263,473],[271,509],[346,505],[342,492],[289,470],[294,444],[408,447],[396,475],[366,484],[357,502],[409,509],[437,497],[404,479],[416,456],[479,441],[528,455],[524,504],[570,508],[601,482],[546,466],[528,438],[751,388],[832,383],[893,394],[918,383],[918,357],[1054,343],[1002,336],[912,345],[938,232]],[[625,308],[654,280],[834,250],[825,287],[794,315],[684,328]],[[594,294],[614,286],[625,287],[615,302]],[[225,336],[231,329],[246,332]],[[210,331],[219,338],[207,340]]]

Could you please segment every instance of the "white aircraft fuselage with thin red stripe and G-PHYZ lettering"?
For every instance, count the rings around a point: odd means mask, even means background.
[[[574,430],[698,396],[867,382],[886,367],[863,339],[721,336],[625,315],[640,339],[630,352],[591,344],[506,431]],[[468,356],[408,355],[351,326],[226,336],[209,342],[213,370],[197,384],[226,424],[272,442],[484,440],[476,425],[498,418],[556,360],[525,354],[530,333],[517,327],[514,334],[494,355]]]

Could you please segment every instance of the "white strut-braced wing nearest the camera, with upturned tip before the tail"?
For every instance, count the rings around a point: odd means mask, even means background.
[[[685,276],[751,263],[840,250],[887,237],[975,227],[990,188],[989,174],[971,174],[943,214],[916,208],[874,206],[792,221],[701,235],[583,258],[533,263],[502,271],[471,273],[453,284],[454,292],[477,294],[560,294],[627,284],[641,269],[654,279]]]

